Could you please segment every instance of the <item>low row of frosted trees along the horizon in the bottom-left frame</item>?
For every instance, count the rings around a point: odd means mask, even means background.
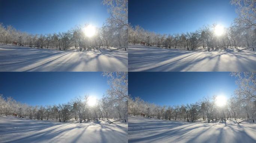
[[[88,105],[88,96],[78,97],[68,103],[47,106],[30,106],[16,102],[11,97],[3,98],[0,95],[0,112],[4,115],[12,115],[21,118],[36,120],[68,121],[71,119],[82,121],[109,120],[123,118],[113,104],[106,99],[100,99],[94,107]],[[126,105],[121,105],[125,107]]]

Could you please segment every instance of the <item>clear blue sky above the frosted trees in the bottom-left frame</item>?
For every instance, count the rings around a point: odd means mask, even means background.
[[[77,96],[101,96],[109,88],[101,72],[1,72],[0,94],[29,105],[67,103]]]

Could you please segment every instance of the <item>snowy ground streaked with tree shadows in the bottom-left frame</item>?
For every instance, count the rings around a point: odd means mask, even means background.
[[[127,143],[127,124],[60,123],[0,116],[0,143]]]

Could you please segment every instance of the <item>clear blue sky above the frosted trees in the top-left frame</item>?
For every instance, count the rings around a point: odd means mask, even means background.
[[[102,0],[0,0],[0,22],[22,32],[64,32],[76,25],[101,26],[109,17]]]

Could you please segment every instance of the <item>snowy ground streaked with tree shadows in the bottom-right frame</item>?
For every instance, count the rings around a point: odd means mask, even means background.
[[[128,117],[129,143],[255,143],[256,124],[188,123]]]

